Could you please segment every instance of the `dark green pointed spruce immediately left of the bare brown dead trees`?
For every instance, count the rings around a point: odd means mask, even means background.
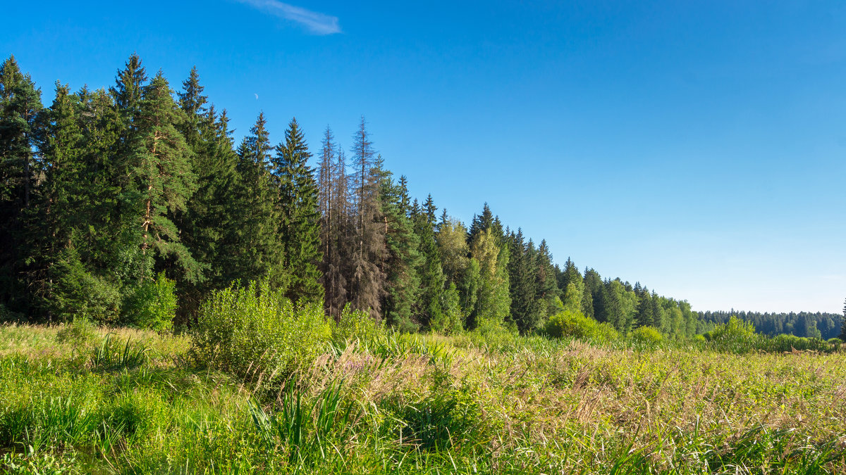
[[[285,141],[277,146],[272,161],[279,183],[280,238],[284,268],[290,275],[286,295],[294,301],[323,299],[320,285],[321,261],[319,189],[307,161],[311,157],[297,119],[291,119]]]

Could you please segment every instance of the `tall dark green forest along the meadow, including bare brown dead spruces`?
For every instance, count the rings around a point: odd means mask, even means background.
[[[487,205],[465,224],[431,195],[412,199],[363,117],[349,149],[327,127],[312,153],[295,118],[274,145],[263,113],[236,145],[195,68],[174,93],[132,55],[108,90],[57,82],[43,106],[14,57],[3,63],[0,317],[134,325],[173,292],[190,325],[210,292],[255,280],[399,330],[527,333],[570,309],[684,337],[722,319],[569,259],[562,269]]]

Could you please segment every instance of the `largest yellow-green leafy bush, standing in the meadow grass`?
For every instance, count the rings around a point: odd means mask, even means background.
[[[294,307],[266,281],[251,282],[212,292],[191,331],[189,354],[256,384],[277,385],[314,361],[331,340],[332,325],[319,303]]]

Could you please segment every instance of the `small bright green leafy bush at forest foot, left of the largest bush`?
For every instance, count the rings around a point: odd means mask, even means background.
[[[125,321],[138,328],[167,331],[176,315],[176,282],[160,272],[156,280],[147,279],[135,287],[124,303]]]

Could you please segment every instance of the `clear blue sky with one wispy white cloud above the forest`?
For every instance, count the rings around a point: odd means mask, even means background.
[[[191,66],[238,139],[296,116],[313,149],[361,115],[412,193],[487,201],[603,277],[697,310],[839,312],[846,298],[846,4],[206,2],[3,6],[53,82],[113,84],[138,52]]]

